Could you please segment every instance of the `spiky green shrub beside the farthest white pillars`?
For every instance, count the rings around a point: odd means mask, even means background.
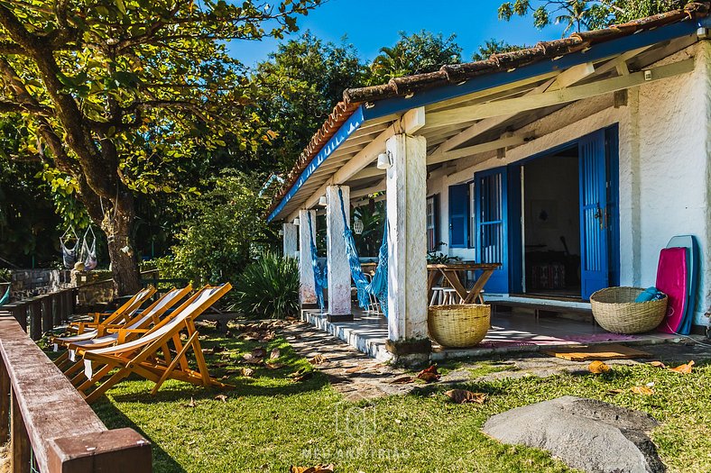
[[[234,309],[255,318],[299,314],[299,285],[296,259],[265,252],[238,278]]]

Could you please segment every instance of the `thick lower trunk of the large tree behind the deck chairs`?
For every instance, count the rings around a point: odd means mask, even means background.
[[[134,196],[123,184],[114,201],[114,208],[106,211],[101,229],[106,233],[108,256],[116,296],[133,295],[141,289],[138,259],[134,251],[135,208]]]

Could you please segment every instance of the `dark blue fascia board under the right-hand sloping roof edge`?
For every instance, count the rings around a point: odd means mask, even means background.
[[[540,76],[548,72],[571,68],[589,61],[605,59],[615,54],[628,50],[636,50],[662,41],[669,41],[689,34],[695,34],[699,26],[711,27],[711,19],[706,17],[702,21],[684,21],[662,26],[646,32],[625,36],[617,40],[596,44],[589,50],[567,54],[560,59],[543,60],[541,62],[516,68],[512,72],[498,72],[481,77],[475,77],[466,83],[457,85],[439,86],[420,92],[411,98],[394,97],[374,102],[374,105],[365,110],[365,120],[380,118],[389,114],[398,114],[411,108],[422,105],[431,105],[457,96],[466,96],[480,92],[494,86],[503,86],[522,79]]]

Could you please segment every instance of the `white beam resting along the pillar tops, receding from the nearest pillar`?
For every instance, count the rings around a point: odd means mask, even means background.
[[[348,179],[356,176],[356,174],[362,169],[367,168],[370,163],[378,157],[378,154],[385,150],[385,141],[388,141],[392,136],[399,133],[412,134],[420,130],[420,128],[424,125],[424,107],[413,108],[405,112],[400,119],[393,122],[382,133],[380,133],[377,138],[374,138],[373,141],[365,145],[365,148],[360,150],[356,156],[349,159],[346,164],[339,168],[334,175],[328,179],[328,181],[319,187],[319,190],[309,196],[303,205],[300,205],[300,208],[309,209],[314,205],[317,205],[319,203],[320,196],[326,195],[326,187],[344,184],[348,181]],[[287,218],[287,222],[292,221],[298,214],[298,210],[292,212],[289,218]]]

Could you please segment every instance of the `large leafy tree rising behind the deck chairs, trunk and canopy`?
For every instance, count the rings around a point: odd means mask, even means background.
[[[134,194],[175,190],[196,147],[259,130],[225,41],[282,37],[320,1],[0,1],[0,113],[21,114],[27,152],[70,179],[106,233],[118,294],[139,285]]]

